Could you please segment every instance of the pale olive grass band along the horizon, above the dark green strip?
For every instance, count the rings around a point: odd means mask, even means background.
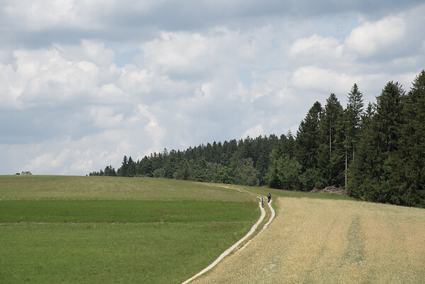
[[[0,176],[4,199],[251,201],[214,183],[110,176]]]

